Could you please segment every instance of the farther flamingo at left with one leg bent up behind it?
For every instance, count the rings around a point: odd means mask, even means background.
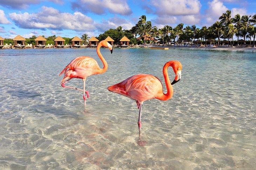
[[[102,74],[108,69],[108,64],[106,60],[103,58],[103,56],[100,53],[100,47],[108,47],[110,49],[110,52],[112,54],[113,52],[113,47],[110,45],[106,40],[101,41],[97,45],[97,55],[100,57],[102,63],[103,63],[103,68],[101,69],[98,65],[98,63],[95,61],[95,59],[87,56],[81,56],[81,57],[76,57],[73,59],[60,73],[64,73],[64,77],[61,81],[61,86],[62,87],[67,87],[67,88],[72,88],[75,90],[80,90],[83,91],[83,100],[85,102],[86,106],[86,97],[89,98],[89,92],[85,91],[85,80],[88,76],[90,75],[97,75],[97,74]],[[68,69],[68,70],[67,70]],[[59,76],[60,76],[59,75]],[[72,78],[81,78],[83,79],[83,90],[75,87],[69,87],[66,86],[65,84],[71,80]],[[86,93],[86,95],[85,95]]]

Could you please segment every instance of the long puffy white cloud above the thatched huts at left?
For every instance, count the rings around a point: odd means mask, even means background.
[[[27,29],[71,29],[76,31],[94,29],[92,18],[80,12],[65,13],[46,6],[42,6],[38,13],[10,13],[9,17],[16,26]]]

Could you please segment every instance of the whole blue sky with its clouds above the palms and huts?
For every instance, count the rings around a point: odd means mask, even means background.
[[[98,36],[110,28],[130,29],[146,15],[152,26],[210,26],[231,10],[254,15],[256,0],[1,0],[0,36],[25,38]]]

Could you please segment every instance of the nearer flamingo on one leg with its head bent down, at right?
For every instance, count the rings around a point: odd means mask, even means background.
[[[175,73],[172,83],[168,77],[168,67],[171,66]],[[182,65],[178,61],[169,61],[163,66],[163,77],[167,87],[167,93],[163,93],[163,85],[160,80],[153,75],[139,74],[131,76],[120,83],[108,87],[108,90],[118,94],[122,94],[136,101],[139,110],[139,134],[141,130],[141,108],[145,100],[159,99],[168,100],[173,97],[173,84],[181,79]]]

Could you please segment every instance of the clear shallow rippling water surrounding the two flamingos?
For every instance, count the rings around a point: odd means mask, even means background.
[[[255,169],[256,52],[101,52],[109,67],[87,78],[84,108],[82,92],[62,88],[58,75],[83,55],[102,67],[96,49],[0,50],[0,169]],[[170,60],[182,77],[170,100],[144,102],[141,147],[136,102],[106,88],[137,73],[164,84]]]

